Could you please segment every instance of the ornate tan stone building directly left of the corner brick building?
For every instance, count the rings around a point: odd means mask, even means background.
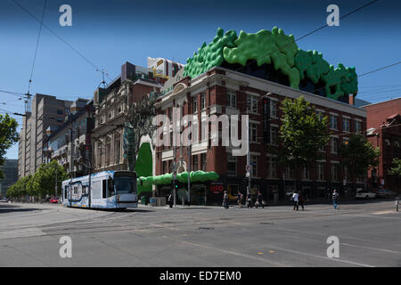
[[[127,170],[124,159],[123,135],[124,113],[130,105],[143,96],[160,91],[167,80],[153,77],[148,68],[126,62],[121,66],[119,77],[105,88],[94,91],[94,171]]]

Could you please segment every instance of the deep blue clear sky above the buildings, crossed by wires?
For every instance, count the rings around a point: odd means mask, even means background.
[[[17,1],[40,19],[45,0]],[[114,78],[125,61],[146,66],[147,56],[185,63],[203,42],[215,37],[218,27],[239,33],[277,26],[298,38],[326,23],[329,4],[337,4],[341,16],[368,2],[47,0],[44,22]],[[72,7],[72,27],[59,25],[61,4]],[[356,73],[363,74],[401,60],[400,12],[397,1],[380,0],[340,20],[340,27],[323,28],[297,45],[323,53],[335,66],[355,66]],[[0,90],[26,93],[39,23],[12,0],[0,2],[0,16]],[[401,64],[360,77],[357,98],[381,102],[399,97],[400,74]],[[30,94],[90,98],[101,81],[101,73],[90,63],[42,29]],[[23,101],[10,94],[0,93],[0,108],[0,112],[24,112]],[[18,145],[7,158],[18,158]]]

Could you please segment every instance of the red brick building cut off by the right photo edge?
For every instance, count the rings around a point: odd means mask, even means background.
[[[381,150],[379,167],[368,173],[369,185],[401,192],[401,178],[389,175],[393,159],[401,159],[401,98],[363,108],[367,111],[368,140]]]

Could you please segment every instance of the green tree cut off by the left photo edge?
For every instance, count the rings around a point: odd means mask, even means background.
[[[0,115],[0,166],[4,165],[6,151],[19,140],[17,127],[18,122],[15,118],[11,118],[8,114]],[[4,178],[2,169],[0,169],[1,178]]]

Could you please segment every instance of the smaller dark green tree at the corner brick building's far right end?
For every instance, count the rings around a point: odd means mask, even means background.
[[[340,144],[338,153],[353,183],[356,178],[364,177],[367,170],[377,167],[381,155],[379,148],[374,148],[361,134],[351,134],[348,142]]]

